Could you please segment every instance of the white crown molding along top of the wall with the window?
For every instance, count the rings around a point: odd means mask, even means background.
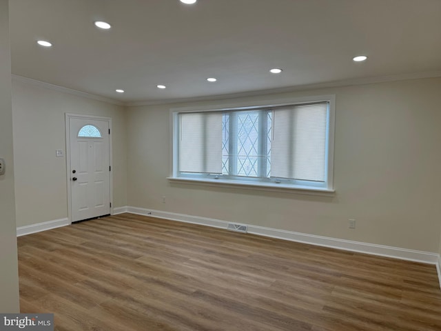
[[[165,100],[145,100],[145,101],[128,101],[125,103],[127,107],[136,106],[154,106],[167,103],[184,103],[184,102],[195,102],[195,101],[211,101],[211,100],[223,100],[223,99],[236,99],[242,97],[256,97],[265,94],[276,94],[276,93],[287,93],[287,92],[298,92],[305,90],[318,90],[322,88],[340,88],[345,86],[358,86],[367,85],[373,83],[386,83],[388,81],[406,81],[411,79],[424,79],[424,78],[436,78],[441,77],[441,70],[430,71],[430,72],[413,72],[410,74],[391,74],[387,76],[378,77],[365,77],[356,79],[343,79],[340,81],[329,81],[326,83],[315,83],[299,86],[290,86],[287,88],[274,88],[269,90],[256,90],[250,92],[240,92],[240,93],[230,93],[230,94],[218,94],[210,95],[206,97],[191,97],[191,98],[181,98],[181,99],[165,99]]]

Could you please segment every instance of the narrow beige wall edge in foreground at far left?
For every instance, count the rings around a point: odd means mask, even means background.
[[[0,157],[6,161],[0,176],[0,312],[6,313],[19,312],[8,0],[0,0],[0,116]]]

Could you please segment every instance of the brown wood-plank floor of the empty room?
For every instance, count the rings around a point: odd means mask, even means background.
[[[434,265],[134,214],[18,240],[55,330],[441,330]]]

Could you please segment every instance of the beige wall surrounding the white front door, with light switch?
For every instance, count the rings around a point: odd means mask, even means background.
[[[33,83],[12,80],[17,227],[68,217],[65,113],[112,117],[113,205],[127,203],[125,111]]]

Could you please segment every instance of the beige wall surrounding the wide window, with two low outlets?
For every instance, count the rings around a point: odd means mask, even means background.
[[[334,197],[171,184],[169,109],[234,100],[127,108],[127,204],[439,252],[440,91],[419,79],[237,99],[336,94]]]

